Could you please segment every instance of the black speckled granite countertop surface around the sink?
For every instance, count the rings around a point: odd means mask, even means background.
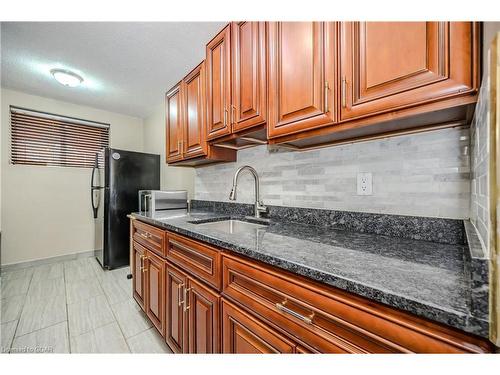
[[[488,335],[487,320],[470,311],[464,271],[467,245],[279,221],[235,235],[199,224],[237,215],[206,211],[133,216],[415,315]]]

